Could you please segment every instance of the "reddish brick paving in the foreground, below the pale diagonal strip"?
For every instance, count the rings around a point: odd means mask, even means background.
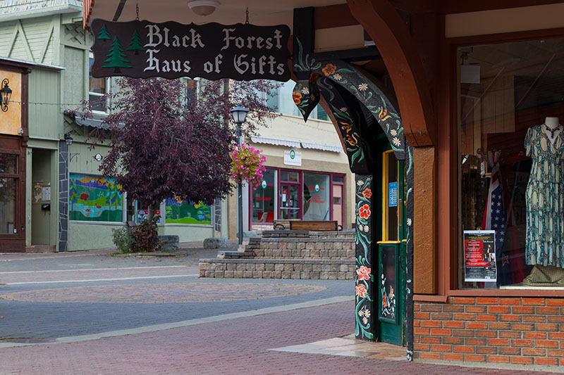
[[[336,303],[95,341],[4,348],[0,374],[531,374],[271,350],[352,333],[350,308]]]

